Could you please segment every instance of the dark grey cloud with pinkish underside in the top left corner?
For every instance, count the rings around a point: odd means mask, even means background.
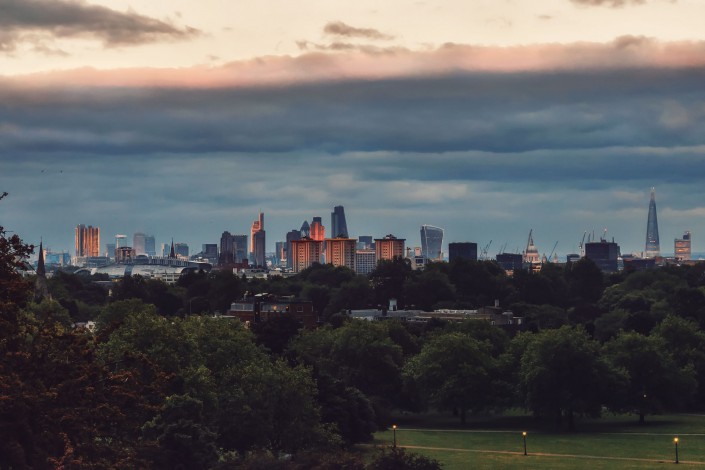
[[[71,0],[0,0],[0,51],[47,38],[90,37],[106,46],[188,39],[199,34],[134,12]]]

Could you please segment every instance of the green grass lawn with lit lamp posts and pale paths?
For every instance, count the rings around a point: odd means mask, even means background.
[[[581,420],[578,432],[557,433],[527,416],[476,420],[461,428],[438,416],[400,418],[397,445],[433,457],[445,469],[469,468],[663,468],[679,460],[705,469],[705,416],[649,417],[639,426],[634,416]],[[455,425],[455,427],[453,427]],[[524,456],[522,431],[527,432]],[[393,431],[375,435],[375,444],[391,445]]]

